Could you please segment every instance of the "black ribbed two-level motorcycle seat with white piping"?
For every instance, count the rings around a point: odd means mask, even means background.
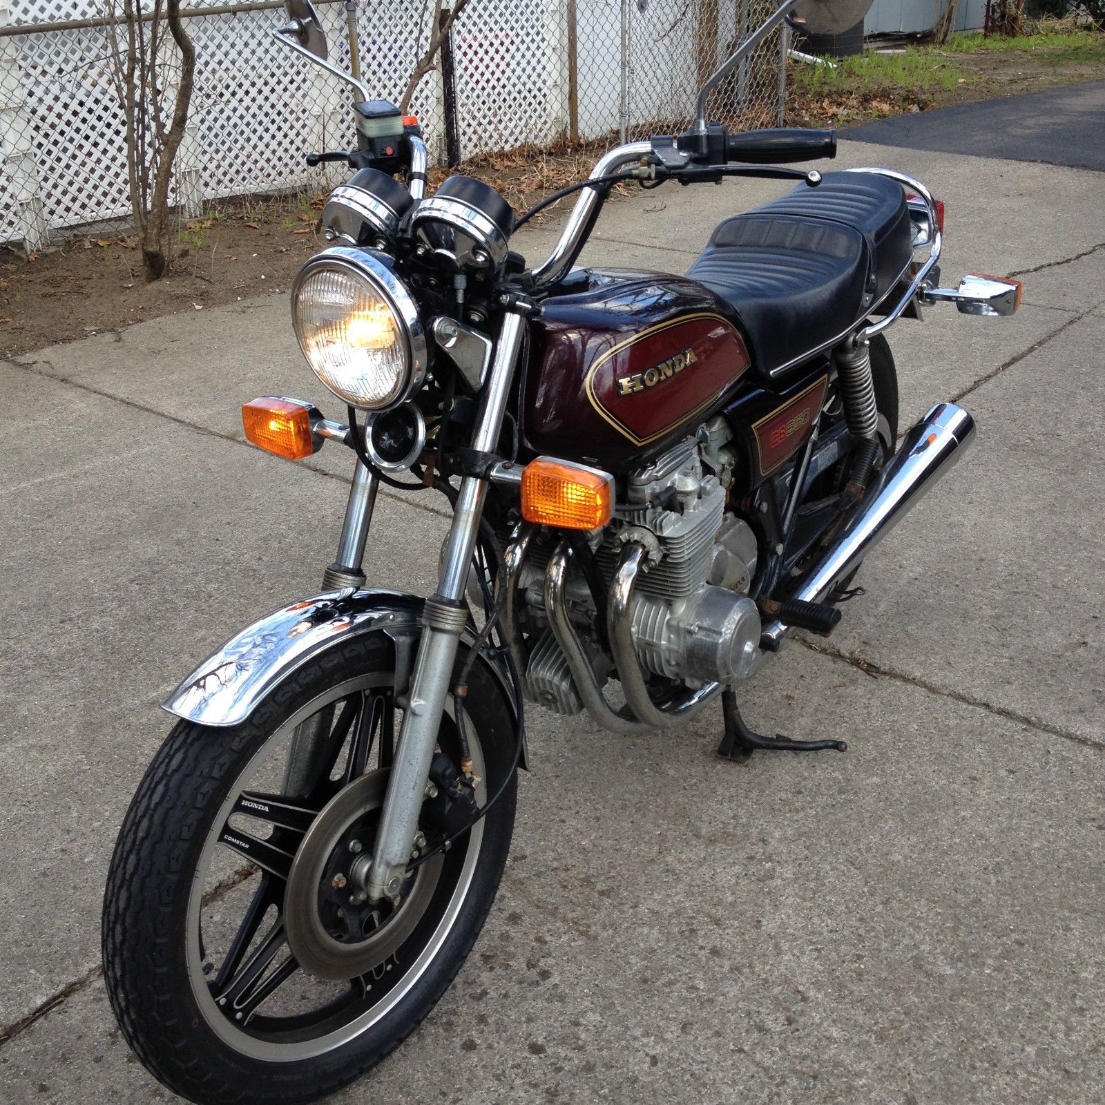
[[[913,259],[902,186],[873,172],[827,172],[726,219],[687,270],[736,312],[753,364],[776,376],[846,334]]]

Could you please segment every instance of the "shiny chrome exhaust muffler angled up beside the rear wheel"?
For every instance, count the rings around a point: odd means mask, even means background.
[[[959,460],[975,436],[975,420],[955,403],[937,403],[906,435],[902,448],[878,474],[857,513],[829,547],[796,599],[820,602]],[[778,652],[788,628],[764,627],[760,648]]]

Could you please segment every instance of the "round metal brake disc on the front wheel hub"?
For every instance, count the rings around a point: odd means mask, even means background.
[[[284,929],[299,966],[318,978],[356,978],[394,955],[433,897],[441,855],[408,877],[398,903],[368,902],[351,874],[355,865],[364,872],[364,857],[372,854],[388,775],[386,768],[370,771],[343,788],[312,822],[292,861]]]

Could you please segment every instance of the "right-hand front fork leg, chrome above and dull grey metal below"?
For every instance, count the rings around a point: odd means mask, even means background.
[[[477,452],[492,452],[498,442],[524,332],[524,317],[507,313],[472,440],[472,448]],[[425,602],[410,703],[403,714],[372,866],[365,887],[373,902],[399,893],[410,862],[457,646],[469,620],[464,588],[472,570],[472,555],[486,495],[486,480],[475,476],[462,480],[442,556],[438,593]]]

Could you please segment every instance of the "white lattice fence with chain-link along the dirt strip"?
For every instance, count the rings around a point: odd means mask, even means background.
[[[129,213],[109,2],[0,0],[0,241],[38,246]],[[678,130],[705,77],[772,10],[774,0],[471,0],[410,110],[433,156],[451,162]],[[318,11],[332,60],[350,65],[356,25],[361,78],[398,103],[430,40],[433,0],[320,0]],[[173,190],[186,210],[336,179],[304,155],[349,144],[348,90],[273,40],[282,19],[275,0],[190,6],[196,85]],[[782,62],[777,31],[715,91],[711,117],[775,123]]]

